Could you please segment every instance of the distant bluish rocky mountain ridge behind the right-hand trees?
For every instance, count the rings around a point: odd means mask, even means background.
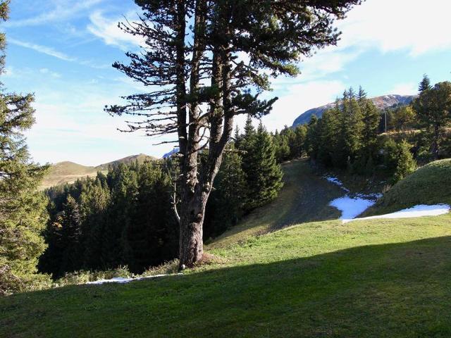
[[[415,96],[409,95],[384,95],[384,96],[376,96],[371,98],[373,104],[376,105],[378,109],[385,109],[397,104],[407,105],[412,102]],[[321,118],[323,113],[328,109],[334,108],[335,102],[331,104],[326,104],[325,106],[321,106],[318,108],[309,109],[305,111],[299,117],[296,118],[295,122],[293,122],[293,127],[297,125],[304,125],[305,123],[309,123],[309,120],[312,115],[316,115],[317,118]]]

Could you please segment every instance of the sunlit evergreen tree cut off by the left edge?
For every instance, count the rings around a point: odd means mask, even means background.
[[[7,20],[9,1],[0,2]],[[6,37],[0,33],[0,73],[4,73]],[[35,123],[34,97],[0,90],[0,294],[33,287],[37,260],[45,249],[41,236],[46,200],[37,192],[47,167],[30,161],[23,132]]]

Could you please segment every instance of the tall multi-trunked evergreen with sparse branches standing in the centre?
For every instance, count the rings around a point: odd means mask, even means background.
[[[143,11],[140,22],[120,27],[142,37],[145,46],[142,53],[127,54],[130,64],[113,67],[154,90],[129,95],[126,104],[107,111],[142,117],[130,123],[130,131],[177,134],[181,179],[174,211],[180,223],[180,268],[192,267],[202,258],[206,203],[235,115],[269,113],[277,98],[259,99],[270,89],[268,74],[299,74],[299,60],[335,44],[340,33],[334,19],[344,18],[361,1],[135,2]],[[237,54],[250,62],[237,63]]]

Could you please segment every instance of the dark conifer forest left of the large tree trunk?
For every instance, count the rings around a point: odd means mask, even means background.
[[[174,258],[171,189],[166,170],[152,162],[121,163],[107,175],[48,189],[48,247],[39,270],[60,277],[128,265],[140,273]]]

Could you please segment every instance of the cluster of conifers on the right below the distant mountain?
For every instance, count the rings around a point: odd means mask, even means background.
[[[426,163],[451,156],[447,137],[451,83],[432,87],[425,76],[419,91],[412,105],[388,111],[378,111],[362,88],[358,93],[353,89],[345,91],[335,108],[324,112],[320,119],[311,118],[305,151],[312,161],[326,168],[361,175],[383,170],[393,177],[392,182],[411,173],[416,161]]]

